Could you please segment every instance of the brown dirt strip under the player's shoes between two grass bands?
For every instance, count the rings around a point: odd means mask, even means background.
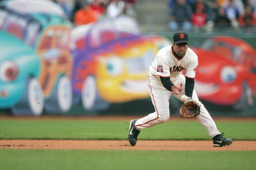
[[[212,147],[212,141],[138,141],[127,140],[0,140],[0,149],[74,149],[74,150],[168,150],[168,151],[256,151],[256,141],[234,141],[232,145]]]

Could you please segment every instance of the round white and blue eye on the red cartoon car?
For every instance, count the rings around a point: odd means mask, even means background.
[[[233,82],[237,77],[237,72],[234,67],[225,66],[220,72],[220,78],[225,83]]]

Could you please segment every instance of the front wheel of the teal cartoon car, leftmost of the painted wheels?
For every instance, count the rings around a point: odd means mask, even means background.
[[[13,115],[35,115],[43,113],[44,97],[42,88],[36,78],[28,78],[26,89],[20,102],[11,108]]]

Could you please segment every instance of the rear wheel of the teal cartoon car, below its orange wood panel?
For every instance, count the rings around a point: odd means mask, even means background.
[[[72,87],[68,77],[62,76],[57,81],[52,97],[45,101],[47,113],[67,113],[72,105]]]

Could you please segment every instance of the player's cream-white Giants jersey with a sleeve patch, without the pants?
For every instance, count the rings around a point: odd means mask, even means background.
[[[186,69],[186,77],[195,78],[197,65],[197,55],[192,49],[188,48],[185,56],[179,60],[173,54],[172,46],[168,46],[159,50],[149,71],[156,76],[170,77],[171,82],[174,83],[184,69]]]

